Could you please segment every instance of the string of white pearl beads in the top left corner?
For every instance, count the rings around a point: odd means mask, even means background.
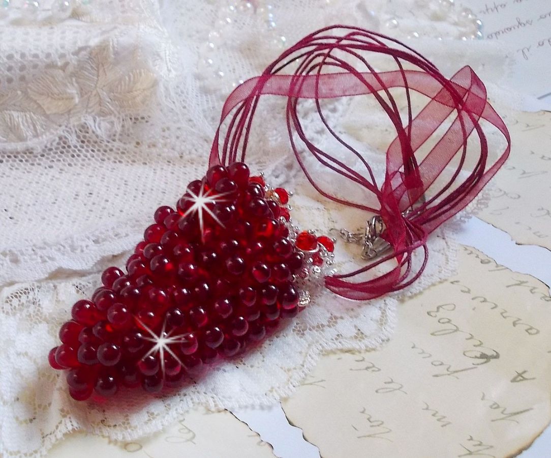
[[[93,0],[0,0],[0,20],[9,22],[49,22],[68,19],[75,8],[89,8]],[[48,6],[49,3],[49,7]]]

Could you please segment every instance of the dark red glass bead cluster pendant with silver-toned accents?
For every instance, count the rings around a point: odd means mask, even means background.
[[[104,271],[48,355],[68,369],[71,396],[181,386],[296,316],[333,263],[333,240],[299,232],[288,200],[236,162],[191,182],[176,210],[157,209],[126,273]]]

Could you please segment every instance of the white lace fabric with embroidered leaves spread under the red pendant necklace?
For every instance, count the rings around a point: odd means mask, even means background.
[[[122,392],[101,404],[73,401],[62,373],[47,363],[60,325],[72,304],[98,286],[101,269],[124,264],[156,206],[174,204],[187,183],[204,174],[233,84],[271,62],[281,36],[290,43],[337,17],[358,25],[365,20],[361,1],[319,8],[316,0],[286,0],[274,9],[276,31],[250,11],[238,11],[221,39],[217,32],[213,62],[205,63],[212,30],[228,14],[221,8],[233,3],[161,3],[162,9],[153,0],[98,0],[92,12],[55,28],[0,29],[2,456],[44,455],[75,429],[134,439],[194,404],[277,402],[323,352],[376,348],[390,338],[397,301],[455,270],[452,222],[431,236],[429,266],[408,290],[369,303],[322,292],[259,348],[179,391],[159,397]],[[386,2],[370,3],[383,12]],[[426,18],[415,24],[431,28]],[[439,26],[446,30],[445,23]],[[429,49],[442,54],[438,45]],[[341,129],[358,140],[349,108],[335,102],[328,119],[342,119]],[[379,116],[368,113],[363,122],[377,123]],[[305,126],[322,145],[323,132]],[[293,219],[320,233],[361,225],[365,215],[320,198],[301,178],[286,136],[283,119],[268,116],[251,137],[251,145],[262,147],[251,147],[247,162],[271,184],[295,190]],[[368,154],[382,177],[382,153],[373,146]],[[344,272],[360,265],[358,249],[338,243],[336,267]]]

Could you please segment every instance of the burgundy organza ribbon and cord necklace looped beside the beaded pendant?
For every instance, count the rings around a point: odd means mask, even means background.
[[[396,70],[377,72],[364,57],[369,53],[388,56]],[[352,61],[355,65],[350,63]],[[282,74],[287,68],[293,68],[293,73]],[[403,88],[406,95],[405,123],[392,88]],[[430,98],[415,116],[412,92]],[[503,165],[510,151],[507,127],[488,103],[484,84],[470,67],[463,67],[447,79],[433,63],[397,40],[360,28],[335,25],[306,36],[283,52],[261,76],[249,79],[230,94],[214,137],[210,165],[244,161],[253,115],[264,94],[287,98],[291,149],[314,188],[328,199],[379,214],[385,222],[387,229],[383,237],[391,244],[392,254],[351,273],[326,278],[329,290],[349,299],[372,299],[415,281],[428,259],[428,235],[474,199]],[[380,188],[361,153],[329,126],[320,103],[322,99],[366,94],[379,102],[397,134],[386,151],[385,180]],[[361,161],[365,167],[363,173],[308,140],[298,115],[299,99],[315,101],[328,135]],[[220,151],[220,129],[230,114]],[[498,129],[507,142],[503,152],[494,152],[494,159],[489,155],[482,120],[486,121],[486,126]],[[444,123],[447,128],[438,139],[436,131]],[[429,139],[434,141],[435,137],[434,146],[423,152],[424,143]],[[467,147],[469,137],[473,140]],[[324,189],[326,183],[318,183],[307,169],[302,155],[308,152],[324,166],[374,195],[380,207],[339,198],[334,190]],[[439,177],[445,180],[437,180]],[[424,251],[424,260],[420,268],[413,271],[412,253],[418,248]],[[395,260],[396,265],[386,273],[356,283],[350,281],[388,260]]]

